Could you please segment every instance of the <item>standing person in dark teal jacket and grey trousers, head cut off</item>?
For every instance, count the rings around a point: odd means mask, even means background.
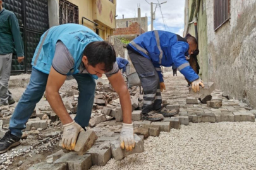
[[[13,53],[18,56],[19,63],[24,59],[18,20],[14,13],[3,8],[2,3],[0,0],[0,106],[15,103],[8,90]]]

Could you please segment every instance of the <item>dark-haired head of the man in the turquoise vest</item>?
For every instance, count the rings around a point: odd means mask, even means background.
[[[82,62],[90,74],[101,77],[113,69],[116,52],[109,42],[91,42],[83,50]]]

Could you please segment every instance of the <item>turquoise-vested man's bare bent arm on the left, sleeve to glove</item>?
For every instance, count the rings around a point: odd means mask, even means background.
[[[51,67],[46,85],[46,98],[54,113],[56,113],[56,115],[58,115],[61,119],[63,125],[73,122],[63,104],[61,96],[59,96],[59,89],[64,84],[65,80],[65,75],[59,74],[57,71],[55,71],[55,69]]]

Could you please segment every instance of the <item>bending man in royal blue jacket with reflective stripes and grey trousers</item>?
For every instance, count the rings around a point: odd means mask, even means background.
[[[188,81],[193,91],[204,87],[200,77],[193,71],[185,56],[197,49],[195,37],[182,38],[168,31],[148,31],[135,38],[128,45],[128,54],[133,63],[144,91],[142,118],[157,121],[172,116],[176,110],[162,108],[161,92],[165,89],[161,65],[175,65]]]

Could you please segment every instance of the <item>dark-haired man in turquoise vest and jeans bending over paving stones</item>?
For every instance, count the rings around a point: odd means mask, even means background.
[[[0,140],[0,154],[20,144],[21,130],[26,127],[44,91],[52,110],[63,123],[63,147],[74,150],[78,133],[88,126],[94,103],[95,79],[102,74],[106,74],[118,93],[123,110],[120,145],[126,150],[135,147],[130,94],[116,64],[116,52],[110,43],[104,42],[94,31],[82,25],[53,26],[40,38],[32,65],[30,82],[11,116],[9,131]],[[80,92],[74,120],[59,96],[59,89],[67,75],[76,79]]]

